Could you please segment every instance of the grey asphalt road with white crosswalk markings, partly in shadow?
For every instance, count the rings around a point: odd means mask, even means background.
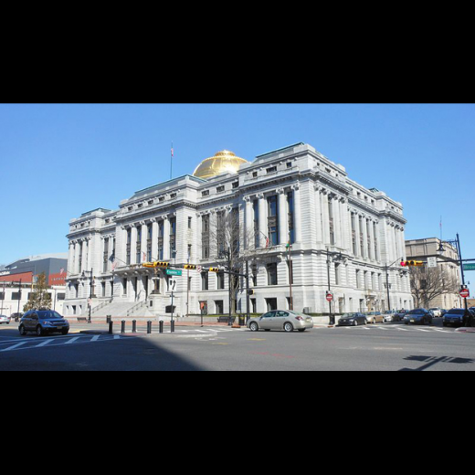
[[[93,330],[97,334],[81,333]],[[379,323],[310,332],[176,327],[130,336],[73,324],[68,336],[0,326],[0,371],[472,371],[475,333]]]

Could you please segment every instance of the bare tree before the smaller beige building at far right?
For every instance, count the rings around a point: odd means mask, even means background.
[[[434,269],[412,268],[410,280],[417,307],[429,308],[431,301],[441,295],[458,291],[457,280],[443,266]]]

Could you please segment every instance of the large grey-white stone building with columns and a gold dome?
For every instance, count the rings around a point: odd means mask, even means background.
[[[216,265],[216,227],[233,213],[239,248],[251,260],[251,312],[290,307],[291,244],[294,309],[384,311],[387,285],[393,309],[413,308],[407,271],[403,206],[377,189],[358,185],[305,143],[264,153],[249,163],[223,151],[195,170],[154,185],[69,223],[67,315],[164,316],[170,305],[164,270],[143,262],[169,261],[202,268]],[[233,168],[235,164],[235,168]],[[206,179],[199,175],[206,173]],[[387,276],[386,276],[387,274]],[[93,276],[93,280],[91,280]],[[227,274],[183,271],[174,293],[176,313],[229,310]],[[246,290],[237,290],[246,312]]]

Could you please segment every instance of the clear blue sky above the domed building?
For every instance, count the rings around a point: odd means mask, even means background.
[[[67,252],[70,218],[169,178],[172,141],[175,176],[225,148],[310,143],[402,202],[406,238],[443,216],[475,259],[474,125],[474,104],[0,104],[0,263]]]

